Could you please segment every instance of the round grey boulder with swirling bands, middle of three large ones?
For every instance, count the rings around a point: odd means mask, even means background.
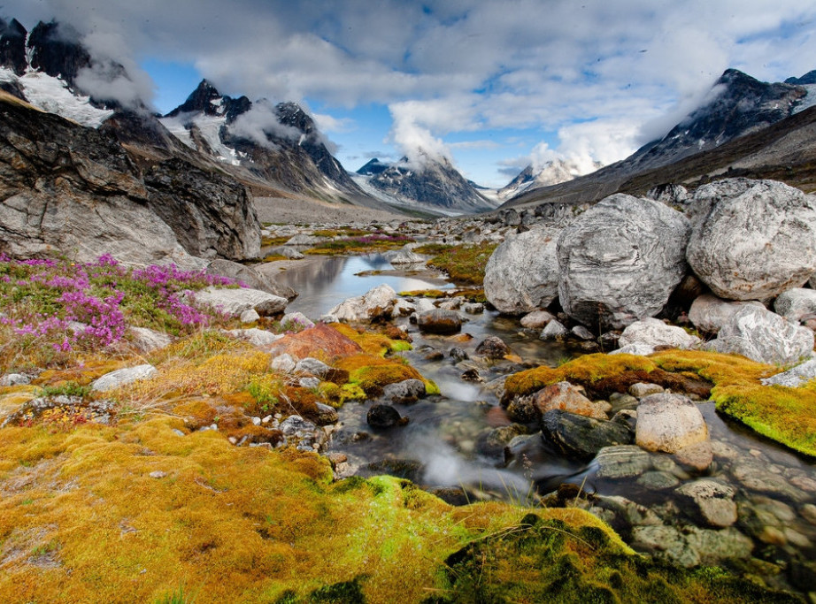
[[[653,317],[686,272],[689,221],[663,203],[611,195],[558,237],[558,297],[584,325]]]

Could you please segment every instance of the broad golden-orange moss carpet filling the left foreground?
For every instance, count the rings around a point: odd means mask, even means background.
[[[181,427],[160,417],[0,431],[4,601],[150,602],[183,585],[200,604],[348,593],[416,602],[447,588],[452,552],[523,516],[500,503],[451,508],[396,478],[332,484],[316,455],[173,432]],[[581,555],[631,554],[581,510],[541,514],[607,535],[603,550]]]

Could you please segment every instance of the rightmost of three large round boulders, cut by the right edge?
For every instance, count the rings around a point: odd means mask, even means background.
[[[697,189],[689,266],[728,300],[773,298],[816,271],[816,198],[774,180]]]

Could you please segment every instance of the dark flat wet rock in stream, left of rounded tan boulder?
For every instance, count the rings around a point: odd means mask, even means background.
[[[547,411],[541,421],[542,439],[563,455],[589,461],[604,447],[628,445],[635,435],[626,425],[568,413]]]

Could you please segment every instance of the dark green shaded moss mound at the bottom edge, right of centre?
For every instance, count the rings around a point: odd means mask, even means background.
[[[689,572],[623,554],[597,527],[533,514],[446,560],[450,589],[425,604],[454,602],[800,602],[716,569]]]

